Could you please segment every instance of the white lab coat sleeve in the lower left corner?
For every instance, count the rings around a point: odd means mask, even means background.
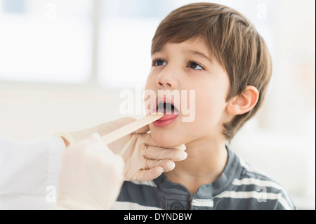
[[[13,142],[0,135],[0,209],[53,209],[64,150],[58,136]]]

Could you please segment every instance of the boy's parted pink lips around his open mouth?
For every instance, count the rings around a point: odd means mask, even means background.
[[[160,95],[156,99],[156,108],[158,107],[159,103],[170,103],[175,107],[176,110],[178,110],[178,107],[174,105],[173,101],[166,97],[166,95]],[[178,110],[179,111],[179,110]],[[156,112],[158,112],[158,108],[156,109]],[[154,121],[152,124],[157,127],[165,127],[169,126],[173,121],[176,121],[177,117],[179,116],[179,113],[173,112],[171,114],[164,114],[164,117],[158,119],[157,121]]]

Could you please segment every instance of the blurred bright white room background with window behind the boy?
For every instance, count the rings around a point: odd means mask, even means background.
[[[41,138],[123,117],[119,93],[144,87],[159,22],[192,2],[0,0],[0,133]],[[265,104],[232,148],[315,209],[315,1],[211,2],[246,15],[273,58]]]

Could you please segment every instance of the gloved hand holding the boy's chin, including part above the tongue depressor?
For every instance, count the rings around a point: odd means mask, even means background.
[[[91,133],[99,133],[100,136],[104,136],[133,121],[136,121],[136,119],[124,117],[89,129],[58,133],[58,135],[72,144],[77,140],[86,138]],[[157,146],[150,138],[150,133],[147,133],[149,130],[149,126],[144,126],[108,145],[112,152],[120,154],[124,158],[126,164],[124,169],[125,180],[152,180],[163,172],[174,169],[174,162],[187,157],[184,152],[184,145],[172,149]]]

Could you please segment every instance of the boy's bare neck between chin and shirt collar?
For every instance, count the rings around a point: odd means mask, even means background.
[[[173,183],[185,185],[193,194],[199,186],[212,183],[220,176],[225,168],[228,153],[225,148],[225,139],[195,140],[185,146],[187,159],[176,162],[175,169],[166,173],[166,176]]]

